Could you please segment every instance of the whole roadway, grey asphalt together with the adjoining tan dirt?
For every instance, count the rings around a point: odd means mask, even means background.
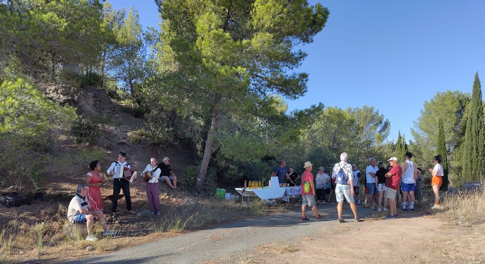
[[[335,205],[319,205],[319,211],[326,216],[324,220],[314,220],[313,213],[308,212],[312,220],[302,222],[299,220],[301,212],[293,211],[64,263],[314,263],[321,259],[328,264],[433,263],[435,260],[434,253],[423,245],[431,239],[428,234],[441,225],[437,220],[421,217],[419,213],[406,213],[397,220],[339,224]],[[373,212],[363,207],[358,211],[362,218]],[[350,209],[344,210],[344,219],[353,220]],[[401,229],[402,226],[408,227],[407,230]],[[391,235],[391,232],[397,234]],[[333,245],[341,244],[340,241],[347,241],[343,248],[348,251],[332,249]],[[298,245],[301,250],[275,253],[279,245]],[[243,259],[248,261],[243,262]]]

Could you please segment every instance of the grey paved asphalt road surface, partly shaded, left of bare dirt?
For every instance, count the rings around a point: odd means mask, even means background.
[[[140,245],[130,249],[89,257],[65,264],[200,264],[210,260],[237,255],[242,252],[252,252],[254,247],[269,242],[284,241],[285,244],[296,243],[306,236],[311,236],[326,225],[337,220],[336,205],[317,205],[319,212],[325,215],[323,220],[315,220],[313,212],[307,209],[309,221],[301,221],[301,210],[264,216],[252,220],[225,224],[208,230],[201,230],[184,235],[152,242],[155,248],[149,245]],[[362,224],[353,222],[354,215],[348,209],[343,211],[345,225]],[[360,218],[365,218],[372,212],[369,208],[357,206]],[[165,247],[160,247],[165,245]]]

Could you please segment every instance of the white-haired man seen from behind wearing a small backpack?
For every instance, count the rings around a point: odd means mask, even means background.
[[[335,163],[332,171],[332,178],[335,178],[336,187],[335,187],[335,194],[337,196],[337,212],[339,214],[339,219],[337,220],[339,223],[345,222],[342,219],[342,207],[343,207],[343,198],[350,204],[350,208],[354,213],[355,221],[360,221],[360,218],[357,216],[357,208],[356,203],[354,200],[354,173],[352,170],[352,166],[350,163],[347,163],[349,155],[345,152],[340,154],[340,162]]]

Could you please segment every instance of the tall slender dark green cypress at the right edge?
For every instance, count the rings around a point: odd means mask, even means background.
[[[485,169],[485,122],[482,86],[478,73],[475,74],[471,102],[468,109],[467,128],[463,148],[463,174],[465,181],[479,181],[484,178]]]

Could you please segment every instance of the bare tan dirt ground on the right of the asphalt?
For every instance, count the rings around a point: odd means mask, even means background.
[[[483,228],[483,227],[482,227]],[[481,229],[480,229],[481,230]],[[478,264],[485,263],[485,234],[438,216],[334,223],[298,241],[258,245],[254,253],[204,264]]]

